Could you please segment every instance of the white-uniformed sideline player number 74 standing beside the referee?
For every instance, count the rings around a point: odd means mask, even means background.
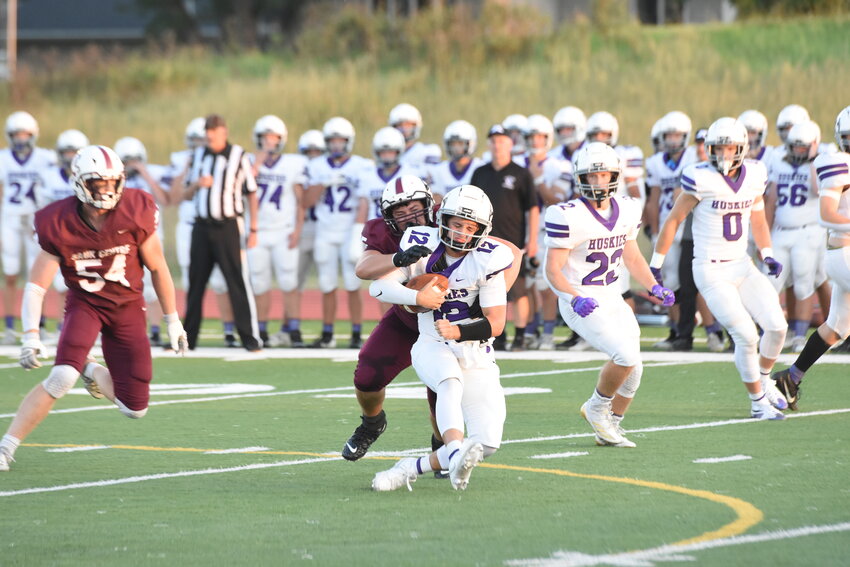
[[[251,287],[257,302],[260,338],[267,346],[286,344],[285,335],[268,333],[271,307],[272,272],[283,292],[284,318],[295,313],[292,292],[298,286],[298,241],[304,223],[301,204],[307,184],[307,158],[300,154],[284,154],[289,135],[278,116],[268,114],[254,124],[257,153],[251,155],[254,177],[260,191],[257,211],[257,245],[248,250]]]

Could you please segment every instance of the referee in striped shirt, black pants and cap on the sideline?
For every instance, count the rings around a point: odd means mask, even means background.
[[[227,141],[227,124],[217,114],[207,116],[207,143],[192,156],[184,183],[184,199],[195,204],[195,224],[189,252],[189,292],[184,325],[189,348],[198,343],[203,319],[202,304],[213,267],[218,264],[227,282],[236,331],[249,351],[260,350],[257,309],[245,250],[245,201],[251,226],[247,248],[257,244],[257,182],[248,156]]]

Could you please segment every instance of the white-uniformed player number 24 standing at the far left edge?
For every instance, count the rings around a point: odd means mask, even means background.
[[[3,344],[17,344],[15,313],[17,306],[17,281],[22,260],[27,270],[38,255],[39,246],[33,237],[33,215],[36,193],[42,184],[40,173],[56,163],[56,155],[48,149],[36,147],[38,123],[31,114],[13,112],[6,119],[6,140],[9,147],[0,150],[0,184],[3,186],[2,260],[6,276],[3,288],[3,306],[6,312],[6,331]],[[21,257],[21,249],[25,256]]]

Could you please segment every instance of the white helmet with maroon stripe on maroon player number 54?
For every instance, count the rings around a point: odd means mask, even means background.
[[[115,180],[114,189],[95,195],[89,184],[98,179]],[[124,164],[106,146],[86,146],[71,162],[71,180],[77,199],[98,209],[114,209],[124,193]]]

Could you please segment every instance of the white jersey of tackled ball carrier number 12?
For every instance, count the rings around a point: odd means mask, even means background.
[[[415,264],[399,268],[410,279],[426,273],[441,273],[449,278],[449,292],[440,309],[419,314],[419,334],[441,339],[434,329],[436,319],[447,319],[455,324],[469,323],[483,317],[481,309],[507,304],[504,278],[493,276],[510,268],[514,255],[510,249],[490,238],[461,258],[445,256],[446,266],[435,270],[435,264],[444,256],[445,245],[440,241],[436,227],[410,227],[401,237],[399,247],[425,246],[434,252]]]

